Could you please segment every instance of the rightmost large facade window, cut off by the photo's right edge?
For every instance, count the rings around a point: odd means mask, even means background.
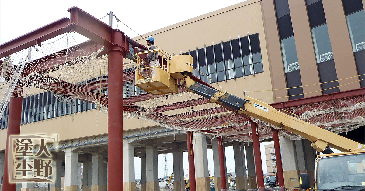
[[[352,49],[354,52],[365,49],[365,18],[364,9],[346,16],[349,27]]]

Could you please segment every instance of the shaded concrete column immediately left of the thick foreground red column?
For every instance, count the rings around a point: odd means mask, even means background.
[[[104,190],[104,156],[92,155],[92,180],[91,190]]]

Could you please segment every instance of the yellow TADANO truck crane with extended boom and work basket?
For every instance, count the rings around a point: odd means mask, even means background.
[[[159,49],[153,51],[161,52]],[[217,90],[211,87],[192,75],[193,61],[190,55],[167,57],[161,52],[161,55],[166,60],[166,64],[162,64],[161,67],[154,67],[155,76],[143,76],[141,74],[141,61],[143,59],[139,57],[141,53],[133,56],[137,61],[137,70],[135,71],[136,86],[153,95],[162,95],[173,92],[177,93],[177,82],[180,81],[180,85],[183,85],[187,91],[203,96],[212,103],[226,107],[239,115],[248,115],[301,135],[310,140],[312,142],[311,146],[323,154],[319,155],[318,157],[320,158],[316,161],[316,190],[328,190],[347,185],[349,186],[346,188],[352,186],[351,188],[356,188],[356,190],[364,189],[365,155],[363,144],[312,125],[308,119],[301,118],[285,110],[280,109],[277,111],[269,104],[249,96],[239,98],[224,90]],[[333,154],[331,148],[335,148],[343,153]],[[324,156],[326,158],[323,158]],[[338,178],[330,178],[331,175],[329,174],[331,174],[331,171],[337,172]],[[304,176],[300,178],[301,184],[306,180]],[[307,179],[309,181],[308,177]],[[359,188],[358,186],[362,187]]]

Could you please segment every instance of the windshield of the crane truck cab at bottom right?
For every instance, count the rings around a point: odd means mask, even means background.
[[[318,159],[317,189],[331,190],[347,185],[365,186],[364,158],[364,154],[351,154]]]

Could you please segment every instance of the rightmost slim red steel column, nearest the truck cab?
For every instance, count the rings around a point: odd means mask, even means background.
[[[276,166],[277,166],[277,179],[278,179],[278,182],[279,182],[279,190],[285,190],[283,163],[281,163],[279,134],[278,134],[277,129],[275,129],[275,128],[271,128],[271,129],[273,131],[275,158],[276,158]]]

